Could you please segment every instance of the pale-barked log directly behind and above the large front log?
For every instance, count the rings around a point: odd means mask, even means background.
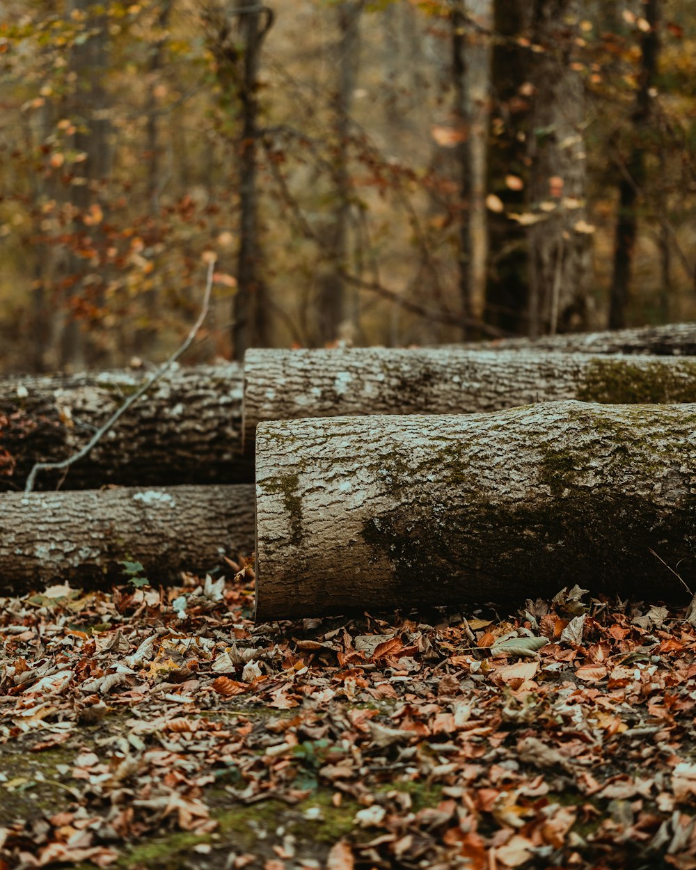
[[[576,398],[696,402],[696,358],[592,357],[458,348],[249,351],[244,444],[262,420],[462,414]]]

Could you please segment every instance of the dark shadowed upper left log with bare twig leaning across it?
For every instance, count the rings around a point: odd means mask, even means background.
[[[0,380],[0,489],[22,489],[37,460],[76,452],[144,378],[105,371]],[[70,468],[64,488],[251,482],[251,462],[240,456],[241,405],[238,364],[172,371]],[[42,472],[37,489],[59,479]]]

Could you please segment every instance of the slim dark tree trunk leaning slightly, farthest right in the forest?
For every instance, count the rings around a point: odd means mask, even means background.
[[[644,0],[644,13],[649,29],[641,39],[642,61],[636,106],[633,111],[631,155],[619,165],[619,216],[614,240],[614,263],[610,291],[609,326],[626,326],[626,305],[631,289],[633,250],[638,234],[637,203],[646,182],[646,164],[642,139],[650,124],[651,90],[658,72],[660,0]]]

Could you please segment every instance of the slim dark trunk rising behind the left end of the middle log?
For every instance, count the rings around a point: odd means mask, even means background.
[[[239,255],[238,288],[233,303],[232,345],[234,358],[241,360],[253,345],[269,343],[266,287],[261,276],[258,244],[258,66],[261,46],[273,23],[271,10],[238,0],[237,15],[244,43],[238,98],[242,107],[242,135],[239,144]]]

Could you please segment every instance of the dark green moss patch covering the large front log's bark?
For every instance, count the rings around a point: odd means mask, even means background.
[[[645,592],[655,579],[662,579],[662,594],[674,599],[681,592],[679,583],[673,583],[649,549],[659,552],[663,539],[679,541],[678,552],[665,555],[673,563],[687,559],[685,570],[693,566],[696,495],[681,478],[675,478],[671,489],[673,442],[639,425],[645,424],[645,409],[626,411],[629,419],[624,423],[579,406],[573,414],[592,432],[588,442],[565,448],[541,442],[537,476],[530,481],[531,503],[486,494],[472,468],[473,456],[476,465],[479,460],[485,464],[474,441],[433,450],[425,461],[410,467],[404,452],[397,451],[398,462],[394,454],[384,458],[385,471],[379,475],[382,492],[393,497],[396,506],[365,519],[361,537],[377,558],[389,559],[397,586],[412,590],[414,579],[419,579],[425,590],[437,586],[442,600],[461,600],[471,579],[486,574],[491,599],[505,600],[509,588],[519,589],[523,579],[536,594],[552,594],[567,576],[595,589],[620,588],[626,594],[639,594],[641,588]],[[696,427],[696,415],[687,416]],[[606,436],[612,440],[610,453]],[[684,455],[683,449],[679,455]],[[586,487],[594,475],[610,479],[626,467],[640,470],[644,494]],[[432,479],[431,472],[445,484],[446,503],[437,500],[437,491],[420,485]],[[411,482],[408,488],[406,480]],[[658,503],[673,502],[673,512],[652,504],[653,486]],[[548,497],[539,487],[548,488]],[[500,540],[505,540],[504,550]],[[477,586],[480,597],[480,583]]]

